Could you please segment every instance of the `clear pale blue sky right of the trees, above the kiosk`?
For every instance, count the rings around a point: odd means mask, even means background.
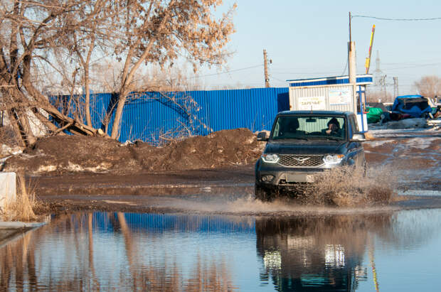
[[[347,74],[349,11],[381,18],[441,17],[440,1],[262,1],[225,0],[218,11],[238,3],[233,22],[236,33],[229,44],[234,51],[228,74],[203,77],[213,87],[264,87],[263,54],[270,65],[270,85],[286,87],[289,79]],[[387,82],[398,77],[400,94],[414,93],[413,83],[423,75],[441,76],[441,19],[435,21],[382,21],[352,19],[357,73],[365,72],[372,25],[376,25],[371,60],[376,69],[377,50]],[[258,67],[253,67],[258,66]],[[250,69],[241,70],[246,67]],[[235,71],[237,70],[237,71]],[[219,72],[203,68],[201,75]]]

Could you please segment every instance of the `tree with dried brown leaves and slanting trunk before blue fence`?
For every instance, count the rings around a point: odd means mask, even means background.
[[[134,90],[134,76],[143,63],[173,65],[180,55],[196,65],[222,65],[224,50],[233,33],[230,10],[216,20],[212,9],[222,0],[121,1],[117,9],[122,18],[119,45],[115,53],[124,58],[119,99],[112,124],[112,138],[119,134],[122,109],[129,92]],[[234,7],[233,7],[234,9]]]

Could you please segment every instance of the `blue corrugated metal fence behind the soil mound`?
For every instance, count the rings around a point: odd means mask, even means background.
[[[277,112],[289,108],[288,95],[287,87],[132,94],[122,112],[119,141],[141,139],[158,144],[176,136],[206,135],[223,129],[269,130]],[[70,100],[61,99],[63,104]],[[115,94],[92,95],[95,128],[105,130],[107,124],[107,133],[112,131],[116,102]]]

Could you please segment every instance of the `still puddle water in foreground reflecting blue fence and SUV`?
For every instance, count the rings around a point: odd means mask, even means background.
[[[438,291],[441,210],[59,215],[0,247],[0,290]]]

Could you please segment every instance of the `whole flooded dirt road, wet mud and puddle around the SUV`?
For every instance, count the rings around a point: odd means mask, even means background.
[[[0,291],[439,291],[429,138],[366,142],[383,205],[256,201],[253,166],[30,177],[55,215],[0,242]]]

